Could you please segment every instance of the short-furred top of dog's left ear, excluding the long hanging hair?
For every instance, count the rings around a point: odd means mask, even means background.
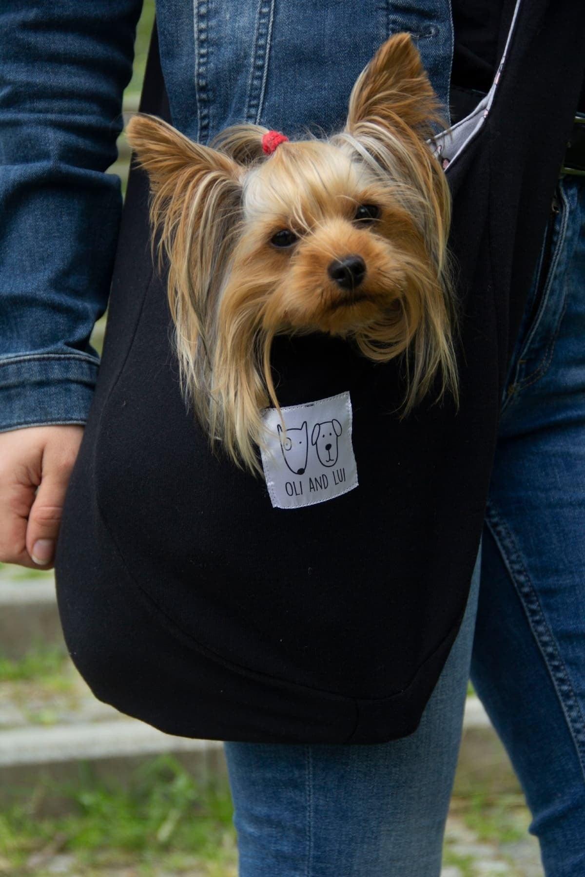
[[[125,134],[154,193],[173,178],[185,175],[190,180],[193,175],[215,172],[239,180],[241,169],[229,155],[196,143],[161,118],[137,113],[126,125]]]

